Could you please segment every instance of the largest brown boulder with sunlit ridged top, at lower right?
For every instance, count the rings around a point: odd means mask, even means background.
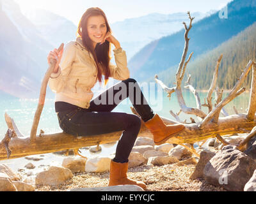
[[[237,150],[236,146],[227,145],[205,165],[204,178],[209,184],[228,191],[243,191],[255,169],[252,158]]]

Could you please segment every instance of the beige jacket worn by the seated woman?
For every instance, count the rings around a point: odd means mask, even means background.
[[[109,64],[110,77],[129,78],[127,57],[122,48],[113,50],[116,65]],[[89,108],[93,98],[92,87],[97,83],[97,67],[93,56],[83,47],[81,38],[65,45],[60,68],[52,73],[49,87],[56,92],[55,101],[63,101],[81,108]]]

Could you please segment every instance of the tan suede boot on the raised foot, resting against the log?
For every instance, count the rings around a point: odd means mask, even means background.
[[[145,126],[154,135],[154,143],[161,145],[168,139],[181,133],[185,126],[183,124],[168,125],[164,124],[164,121],[155,114],[154,117],[147,122],[144,122]]]

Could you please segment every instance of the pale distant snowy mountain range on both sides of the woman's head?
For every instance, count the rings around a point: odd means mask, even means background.
[[[65,17],[46,10],[27,11],[24,15],[36,25],[45,39],[57,47],[76,38],[77,26]],[[207,13],[193,13],[196,20],[204,18]],[[164,15],[152,13],[138,18],[129,18],[122,22],[110,24],[113,34],[120,41],[129,60],[150,41],[170,35],[182,29],[181,22],[188,21],[186,13]]]

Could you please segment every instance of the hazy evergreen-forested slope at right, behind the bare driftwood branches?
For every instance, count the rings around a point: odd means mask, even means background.
[[[256,22],[244,31],[222,43],[211,52],[200,55],[188,66],[187,73],[191,74],[191,84],[196,89],[209,89],[216,62],[221,54],[223,59],[219,67],[217,85],[221,89],[232,89],[241,76],[241,71],[251,60],[256,59]],[[208,74],[209,73],[209,74]],[[250,89],[252,71],[244,81],[243,86]]]

